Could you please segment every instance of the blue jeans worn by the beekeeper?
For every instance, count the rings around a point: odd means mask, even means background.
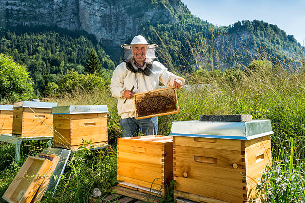
[[[122,137],[136,137],[140,135],[156,135],[158,132],[158,117],[136,119],[121,118]]]

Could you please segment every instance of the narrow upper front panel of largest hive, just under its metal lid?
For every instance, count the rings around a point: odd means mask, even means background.
[[[240,151],[240,140],[175,136],[174,145]]]

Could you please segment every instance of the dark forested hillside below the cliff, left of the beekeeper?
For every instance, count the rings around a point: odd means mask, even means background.
[[[113,70],[115,65],[101,44],[84,31],[46,26],[0,28],[0,53],[24,64],[38,91],[48,82],[57,83],[59,76],[68,70],[84,73],[83,66],[92,47],[98,53],[102,68]]]

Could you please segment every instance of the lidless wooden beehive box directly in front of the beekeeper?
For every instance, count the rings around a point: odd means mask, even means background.
[[[171,136],[118,139],[117,180],[120,186],[164,195],[173,179],[172,164]]]

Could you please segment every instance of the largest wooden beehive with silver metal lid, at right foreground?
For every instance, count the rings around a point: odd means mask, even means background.
[[[271,166],[272,133],[270,120],[173,122],[174,198],[259,202],[255,189]]]

